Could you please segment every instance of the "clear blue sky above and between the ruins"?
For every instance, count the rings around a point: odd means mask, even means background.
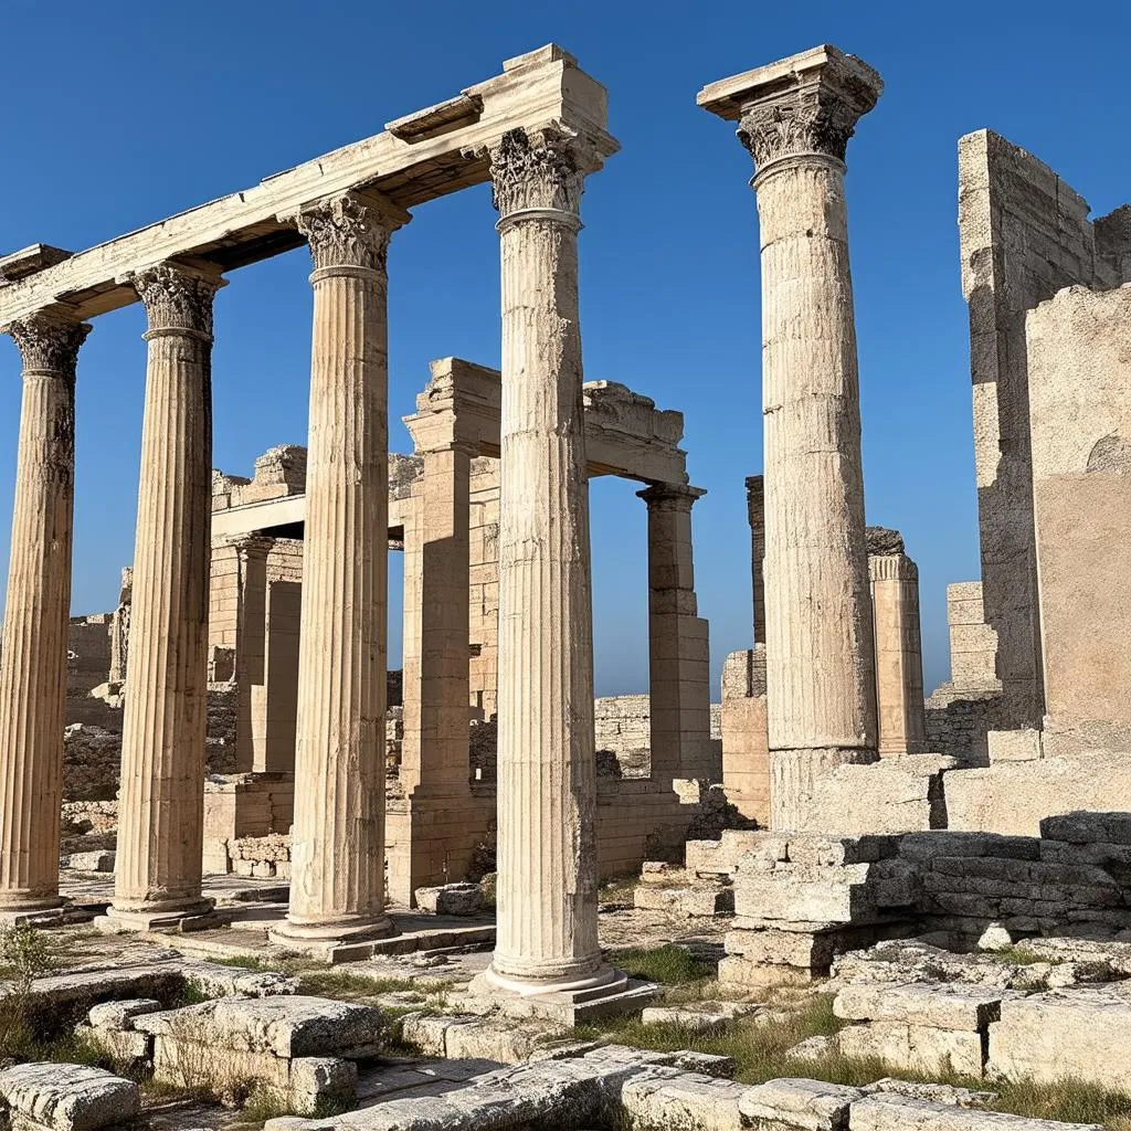
[[[749,647],[743,477],[761,469],[759,285],[750,161],[697,109],[706,83],[830,42],[884,77],[848,150],[867,517],[918,561],[926,685],[947,677],[946,586],[978,575],[956,143],[991,127],[1097,215],[1131,198],[1131,6],[1035,0],[492,5],[0,0],[0,251],[80,250],[377,133],[554,41],[610,90],[622,150],[582,213],[586,377],[681,409],[700,613],[717,681]],[[390,416],[432,357],[497,365],[498,243],[483,187],[425,205],[390,253]],[[217,300],[215,463],[305,442],[309,259],[231,276]],[[74,610],[113,606],[132,556],[145,345],[135,305],[97,320],[79,366]],[[0,576],[19,360],[0,342]],[[645,507],[593,485],[599,693],[647,688]],[[390,563],[399,663],[399,560]],[[717,694],[717,688],[716,688]]]

